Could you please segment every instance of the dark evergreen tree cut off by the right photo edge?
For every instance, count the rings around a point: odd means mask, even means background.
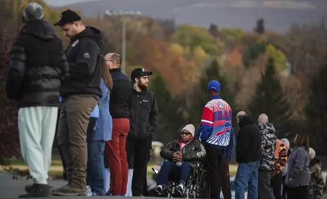
[[[310,145],[319,155],[327,154],[325,143],[327,142],[327,63],[312,77],[311,93],[308,104],[305,107],[307,118],[306,134],[310,137]]]

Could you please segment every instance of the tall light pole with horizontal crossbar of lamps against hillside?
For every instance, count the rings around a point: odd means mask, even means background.
[[[121,16],[122,19],[122,32],[121,32],[121,37],[122,37],[122,41],[121,41],[121,49],[122,49],[122,53],[121,53],[121,71],[123,73],[125,73],[126,70],[126,20],[125,20],[125,16],[132,16],[132,15],[141,15],[142,12],[141,11],[116,11],[116,10],[107,10],[105,12],[105,14],[107,16]]]

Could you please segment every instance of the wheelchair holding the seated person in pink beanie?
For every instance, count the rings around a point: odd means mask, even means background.
[[[172,194],[179,184],[179,179],[175,176],[169,176],[168,186],[165,188],[168,197],[173,197]],[[197,161],[197,166],[191,171],[187,183],[185,184],[185,198],[209,198],[210,197],[210,177],[204,169],[204,163]]]

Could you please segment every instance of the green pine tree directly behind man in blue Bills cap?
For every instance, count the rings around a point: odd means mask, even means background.
[[[231,106],[233,112],[232,123],[236,124],[236,114],[238,108],[235,104],[234,96],[228,88],[226,76],[221,73],[220,65],[216,59],[214,59],[205,69],[204,74],[200,78],[199,87],[194,90],[194,95],[192,98],[193,103],[188,108],[189,121],[194,124],[195,128],[199,125],[203,108],[210,100],[207,90],[208,83],[211,80],[217,80],[220,83],[220,98]]]

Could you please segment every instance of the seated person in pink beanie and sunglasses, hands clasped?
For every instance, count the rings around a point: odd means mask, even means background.
[[[206,150],[203,144],[194,140],[195,128],[192,124],[186,125],[178,137],[168,143],[160,151],[160,156],[165,159],[161,166],[157,187],[157,196],[166,195],[168,179],[170,175],[179,173],[177,177],[180,182],[176,186],[173,197],[184,197],[187,179],[190,172],[197,166],[197,161],[203,161],[206,157]]]

